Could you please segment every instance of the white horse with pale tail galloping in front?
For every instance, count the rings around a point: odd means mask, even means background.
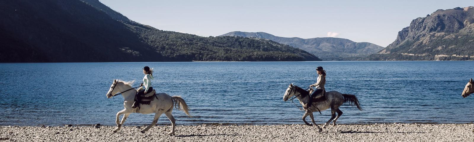
[[[110,85],[109,92],[107,92],[107,98],[111,98],[112,96],[122,94],[124,98],[123,102],[123,107],[125,109],[119,111],[117,113],[117,118],[116,118],[116,123],[117,123],[117,129],[115,129],[113,132],[117,133],[120,128],[123,126],[123,123],[125,123],[125,120],[127,119],[128,115],[131,113],[140,113],[140,114],[151,114],[155,113],[155,119],[153,119],[153,122],[145,128],[145,130],[140,131],[141,133],[145,133],[148,131],[152,126],[155,125],[156,122],[158,122],[158,118],[161,116],[161,114],[166,114],[166,117],[171,121],[172,124],[172,129],[171,132],[168,133],[170,135],[174,134],[174,127],[175,127],[175,120],[173,118],[173,115],[171,112],[173,111],[173,104],[174,107],[184,111],[188,116],[191,116],[188,112],[189,107],[184,102],[184,100],[180,96],[170,96],[166,93],[159,93],[155,94],[156,97],[153,101],[150,102],[150,104],[140,104],[140,109],[134,109],[132,108],[132,104],[135,102],[135,94],[137,93],[137,90],[132,88],[131,84],[133,84],[134,81],[130,82],[124,82],[121,80],[114,80],[112,85]],[[115,94],[115,95],[112,95]],[[123,114],[122,121],[118,122],[120,115]]]

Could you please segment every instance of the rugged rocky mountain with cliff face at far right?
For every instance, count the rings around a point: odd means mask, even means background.
[[[411,21],[370,60],[473,60],[474,7],[439,9]]]

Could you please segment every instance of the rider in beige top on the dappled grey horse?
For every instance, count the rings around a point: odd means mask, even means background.
[[[326,84],[326,71],[323,70],[322,66],[316,67],[316,71],[319,75],[318,81],[315,84],[310,85],[310,87],[316,86],[316,90],[314,90],[313,93],[311,93],[310,95],[310,103],[303,104],[304,108],[310,108],[313,102],[312,100],[320,98],[321,96],[323,96],[324,92],[326,92],[326,90],[324,90],[324,84]]]

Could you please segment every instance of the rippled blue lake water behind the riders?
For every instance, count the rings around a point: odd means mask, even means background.
[[[364,111],[347,104],[338,123],[471,123],[474,97],[462,98],[472,61],[3,63],[0,64],[0,125],[115,124],[121,95],[107,99],[113,79],[136,80],[143,66],[155,68],[157,92],[181,95],[187,117],[177,124],[300,123],[301,112],[283,102],[290,83],[316,82],[327,71],[326,89],[359,98]],[[149,124],[153,114],[131,114],[126,125]],[[318,123],[330,111],[315,114]],[[307,118],[310,120],[310,118]],[[159,124],[168,124],[163,115]]]

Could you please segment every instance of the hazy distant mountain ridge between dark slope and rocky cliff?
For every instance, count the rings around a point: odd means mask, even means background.
[[[368,43],[354,42],[345,38],[284,38],[273,36],[264,32],[241,32],[233,31],[223,36],[264,38],[275,42],[298,47],[308,51],[323,60],[356,60],[366,57],[383,49],[383,47]]]

